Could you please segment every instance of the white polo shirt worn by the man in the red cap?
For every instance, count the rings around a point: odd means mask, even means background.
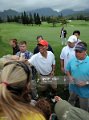
[[[52,71],[52,65],[55,65],[55,56],[51,51],[47,51],[47,58],[45,58],[39,52],[33,55],[28,62],[32,64],[40,74],[48,75]]]

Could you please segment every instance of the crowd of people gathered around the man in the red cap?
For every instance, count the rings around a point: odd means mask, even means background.
[[[64,28],[61,38],[63,31]],[[26,41],[10,40],[13,55],[0,72],[0,119],[89,120],[89,56],[87,44],[79,36],[79,30],[68,40],[64,35],[65,46],[60,53],[60,70],[68,80],[68,101],[57,96],[60,91],[54,77],[56,61],[49,43],[37,36],[32,53]],[[50,99],[47,99],[48,89]],[[75,107],[77,99],[80,108]]]

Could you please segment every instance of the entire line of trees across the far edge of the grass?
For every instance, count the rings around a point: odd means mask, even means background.
[[[69,17],[69,18],[66,18],[62,15],[59,15],[59,16],[40,16],[38,13],[34,13],[34,14],[27,14],[25,11],[21,14],[21,15],[18,15],[18,16],[7,16],[6,20],[2,19],[0,17],[0,23],[3,23],[3,22],[16,22],[16,23],[22,23],[24,25],[41,25],[42,22],[47,22],[47,23],[52,23],[53,24],[53,27],[56,26],[56,23],[61,23],[62,25],[68,23],[68,20],[85,20],[85,21],[88,21],[89,20],[89,17],[85,17],[83,15],[79,15],[77,17]]]

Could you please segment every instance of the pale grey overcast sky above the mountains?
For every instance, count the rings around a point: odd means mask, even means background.
[[[13,9],[27,11],[50,7],[54,10],[63,9],[84,10],[89,8],[89,0],[0,0],[0,11]]]

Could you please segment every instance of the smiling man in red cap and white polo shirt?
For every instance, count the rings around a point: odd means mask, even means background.
[[[51,51],[47,51],[48,42],[46,40],[41,40],[37,45],[39,48],[39,53],[33,55],[28,62],[36,68],[40,76],[48,76],[52,78],[55,71],[55,56]],[[46,90],[47,86],[48,85],[45,84],[42,87],[44,87],[44,90]],[[57,85],[55,87],[55,85],[51,84],[51,87],[56,89]]]

